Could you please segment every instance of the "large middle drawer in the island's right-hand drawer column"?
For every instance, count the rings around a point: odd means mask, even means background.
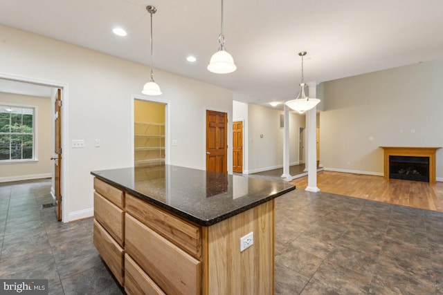
[[[200,294],[200,261],[128,213],[125,251],[166,294]]]

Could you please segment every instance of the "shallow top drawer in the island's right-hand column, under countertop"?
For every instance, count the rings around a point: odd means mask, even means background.
[[[126,211],[196,258],[201,258],[201,229],[129,194]]]

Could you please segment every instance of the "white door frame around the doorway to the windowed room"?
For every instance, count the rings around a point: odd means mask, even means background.
[[[35,77],[23,77],[1,72],[0,79],[36,84],[39,86],[46,86],[50,88],[59,88],[62,92],[62,222],[69,222],[69,181],[66,181],[69,179],[69,84],[65,82],[57,82]],[[52,116],[53,115],[54,114],[52,114]],[[51,117],[51,119],[53,120],[53,117]]]

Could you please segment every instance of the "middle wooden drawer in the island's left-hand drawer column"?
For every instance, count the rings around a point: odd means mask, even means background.
[[[123,247],[125,212],[94,191],[94,218]]]

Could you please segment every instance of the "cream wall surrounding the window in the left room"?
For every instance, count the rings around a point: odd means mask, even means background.
[[[0,164],[0,182],[51,177],[51,97],[0,93],[0,104],[35,107],[35,149],[37,161]]]

